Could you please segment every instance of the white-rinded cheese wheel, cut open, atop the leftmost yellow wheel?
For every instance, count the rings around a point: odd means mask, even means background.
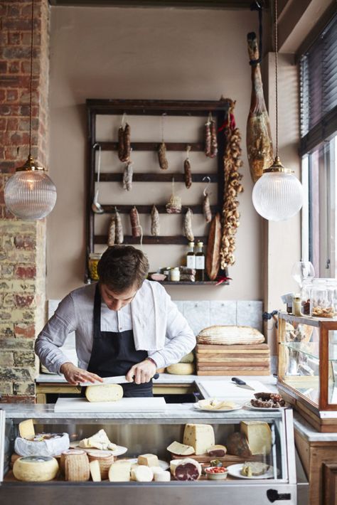
[[[20,456],[53,457],[69,449],[68,433],[38,433],[33,440],[16,437],[14,450]]]

